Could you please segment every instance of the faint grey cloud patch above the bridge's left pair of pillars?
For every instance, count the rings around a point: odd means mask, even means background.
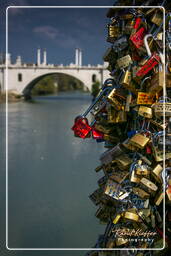
[[[59,31],[52,26],[39,26],[33,29],[34,33],[45,35],[47,38],[55,39],[59,35]]]

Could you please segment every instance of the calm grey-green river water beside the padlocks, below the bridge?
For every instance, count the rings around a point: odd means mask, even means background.
[[[91,248],[103,233],[88,198],[102,176],[94,168],[103,144],[76,138],[70,129],[90,103],[88,94],[65,92],[9,104],[10,248]]]

